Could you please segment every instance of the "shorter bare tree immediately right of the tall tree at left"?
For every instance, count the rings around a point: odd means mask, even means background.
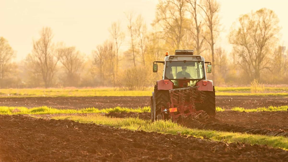
[[[57,49],[60,63],[65,68],[66,85],[76,86],[79,82],[80,72],[84,59],[75,47],[61,47]]]

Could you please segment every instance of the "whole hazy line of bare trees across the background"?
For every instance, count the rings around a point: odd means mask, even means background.
[[[231,24],[227,53],[219,43],[221,7],[216,0],[160,0],[148,30],[141,14],[125,13],[126,27],[112,22],[110,37],[84,56],[75,46],[53,42],[50,27],[43,27],[33,40],[30,54],[20,63],[0,37],[1,88],[62,86],[111,86],[143,90],[161,79],[161,67],[152,73],[153,61],[175,49],[194,49],[213,65],[208,75],[215,85],[248,84],[256,79],[268,84],[287,84],[287,50],[280,43],[279,19],[262,8],[241,15]],[[129,48],[121,50],[124,44]]]

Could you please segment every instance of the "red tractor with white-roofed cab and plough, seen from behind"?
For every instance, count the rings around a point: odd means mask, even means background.
[[[154,61],[155,73],[158,64],[164,69],[151,96],[152,121],[215,116],[215,88],[213,81],[206,79],[206,72],[212,71],[211,62],[194,55],[194,50],[175,50],[174,55],[166,52],[164,61]]]

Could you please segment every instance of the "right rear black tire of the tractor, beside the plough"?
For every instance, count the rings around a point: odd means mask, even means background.
[[[196,110],[204,110],[208,115],[216,115],[216,101],[215,101],[215,88],[213,86],[213,91],[205,91],[205,99],[202,104],[196,104]]]

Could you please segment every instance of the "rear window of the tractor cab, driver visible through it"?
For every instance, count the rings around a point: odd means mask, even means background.
[[[202,79],[205,76],[204,62],[167,61],[165,79]]]

